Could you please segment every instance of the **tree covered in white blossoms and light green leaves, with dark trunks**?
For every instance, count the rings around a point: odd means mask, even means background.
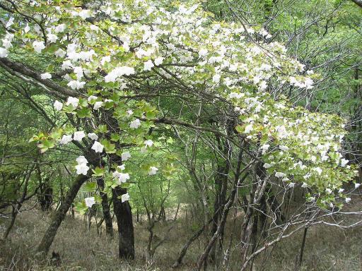
[[[0,4],[7,17],[1,67],[54,97],[54,108],[62,114],[57,128],[31,140],[42,153],[69,143],[83,152],[74,162],[79,177],[40,251],[49,249],[83,182],[95,176],[103,181],[94,190],[112,194],[119,255],[134,258],[127,193],[132,171],[127,163],[132,152],[147,157],[157,150],[158,133],[153,130],[161,125],[208,131],[247,153],[245,167],[238,162],[230,202],[245,172],[258,180],[259,195],[277,179],[288,188],[308,188],[308,200],[320,207],[341,205],[339,189],[356,175],[341,155],[343,120],[293,107],[284,96],[286,86],[308,92],[317,74],[288,57],[282,44],[269,42],[271,36],[262,28],[214,22],[197,5],[161,6],[118,0]],[[18,60],[22,54],[28,56],[26,63]],[[35,59],[40,66],[35,67]],[[173,105],[167,101],[189,95],[201,103],[223,104],[223,113],[233,121],[228,128],[213,129],[199,120],[170,119],[167,112]],[[172,176],[175,170],[172,159],[158,165],[137,157],[145,161],[145,176]],[[77,209],[85,212],[101,200],[86,198]],[[211,241],[206,251],[214,246]],[[200,258],[199,266],[203,261]]]

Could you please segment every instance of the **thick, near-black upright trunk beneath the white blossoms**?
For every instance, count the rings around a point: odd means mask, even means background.
[[[128,201],[122,203],[121,195],[127,193],[126,188],[112,189],[113,209],[117,217],[119,258],[134,259],[134,229],[132,222],[132,209]]]

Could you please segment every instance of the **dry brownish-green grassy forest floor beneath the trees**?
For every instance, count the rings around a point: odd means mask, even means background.
[[[49,223],[49,213],[32,208],[21,212],[16,219],[8,240],[0,242],[0,270],[172,270],[182,246],[187,242],[196,224],[191,219],[179,217],[176,222],[163,222],[155,227],[158,238],[169,231],[168,239],[156,251],[152,260],[147,258],[148,231],[146,222],[135,223],[136,260],[122,263],[117,260],[117,238],[106,239],[105,231],[98,235],[93,222],[88,230],[82,217],[70,215],[62,223],[54,240],[52,251],[59,253],[61,266],[38,263],[33,251],[40,242]],[[236,225],[240,221],[236,220]],[[4,234],[6,224],[0,220],[0,234]],[[115,227],[117,227],[115,225]],[[231,223],[227,227],[232,227]],[[228,241],[228,237],[226,240]],[[237,240],[238,236],[235,236]],[[296,270],[296,257],[299,253],[302,232],[278,243],[272,251],[257,258],[253,270]],[[183,264],[176,270],[193,270],[197,256],[203,251],[202,240],[197,240],[189,248]],[[229,270],[240,270],[238,250],[230,260]],[[362,227],[343,230],[336,227],[316,226],[308,229],[301,270],[362,270]],[[267,263],[266,265],[264,263]],[[264,265],[264,268],[262,266]],[[221,270],[209,266],[209,270]]]

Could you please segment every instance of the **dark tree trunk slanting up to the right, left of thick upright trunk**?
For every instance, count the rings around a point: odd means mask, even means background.
[[[40,241],[39,246],[37,246],[38,255],[42,255],[43,257],[47,255],[49,248],[52,246],[54,241],[54,237],[57,234],[58,228],[66,216],[66,212],[68,212],[69,207],[71,207],[71,203],[73,203],[74,198],[76,198],[76,194],[78,193],[82,184],[88,178],[89,176],[79,175],[73,181],[73,183],[71,183],[71,188],[69,189],[68,193],[66,193],[66,197],[62,202],[62,205],[60,205],[57,212],[55,212],[54,216],[52,217],[52,222],[50,222],[47,231],[45,231],[44,236],[42,236],[42,241]]]

